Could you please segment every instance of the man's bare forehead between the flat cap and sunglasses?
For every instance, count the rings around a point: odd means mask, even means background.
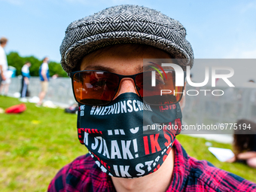
[[[117,67],[129,65],[133,68],[136,67],[139,72],[143,72],[143,70],[149,69],[151,65],[150,62],[145,63],[145,59],[150,59],[151,62],[160,65],[161,62],[170,57],[169,53],[145,44],[116,44],[103,47],[84,56],[81,61],[81,70],[111,72],[115,63]]]

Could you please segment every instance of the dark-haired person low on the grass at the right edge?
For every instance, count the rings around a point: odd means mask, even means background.
[[[229,163],[240,162],[246,163],[248,166],[256,169],[256,123],[251,120],[238,120],[237,129],[233,135],[233,150],[235,156],[230,160]],[[244,127],[248,127],[244,130]],[[246,133],[249,134],[244,134]]]

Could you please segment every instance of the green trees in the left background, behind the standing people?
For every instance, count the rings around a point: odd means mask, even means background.
[[[20,56],[17,52],[11,52],[7,55],[8,66],[14,66],[17,69],[16,75],[21,75],[21,69],[26,62],[31,63],[29,72],[31,76],[39,76],[39,67],[42,60],[35,56]],[[62,69],[59,62],[49,62],[50,76],[59,75],[59,77],[68,77],[66,72]]]

